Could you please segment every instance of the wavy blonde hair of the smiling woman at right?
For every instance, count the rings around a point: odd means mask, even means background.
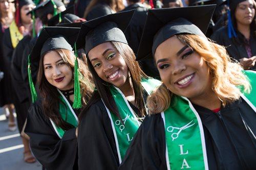
[[[243,68],[238,62],[230,60],[223,46],[198,35],[180,34],[176,37],[202,56],[212,76],[212,90],[222,101],[223,106],[240,98],[241,92],[237,86],[243,86],[245,92],[250,91],[250,84],[242,72]],[[162,83],[147,98],[149,113],[160,113],[168,109],[172,95],[173,93]]]

